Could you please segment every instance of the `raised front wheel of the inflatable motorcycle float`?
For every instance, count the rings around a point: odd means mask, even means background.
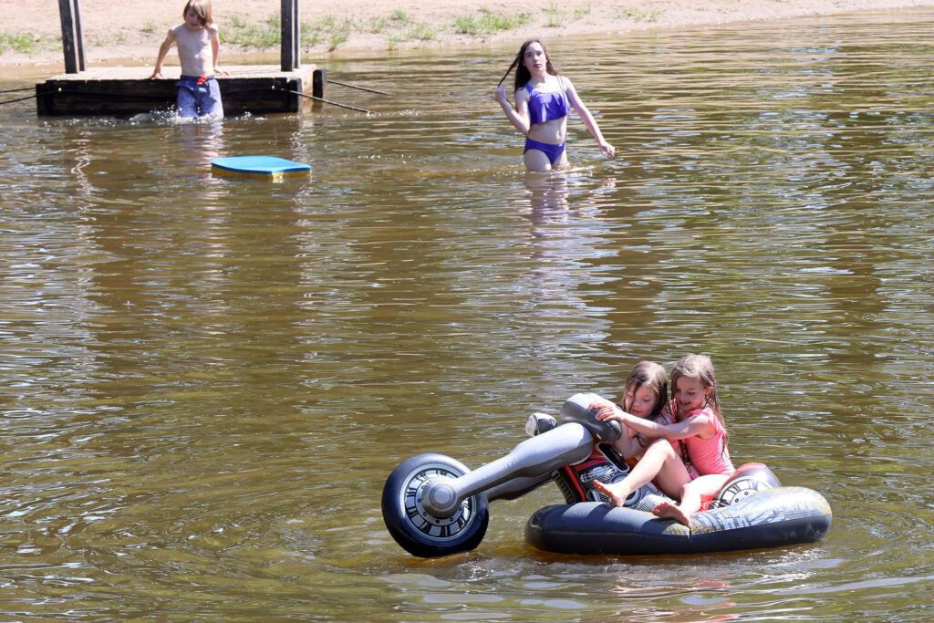
[[[383,521],[405,551],[420,558],[448,556],[474,549],[489,523],[487,496],[460,503],[451,517],[434,517],[421,505],[421,489],[436,477],[457,478],[470,470],[443,454],[420,454],[392,470],[383,487]]]

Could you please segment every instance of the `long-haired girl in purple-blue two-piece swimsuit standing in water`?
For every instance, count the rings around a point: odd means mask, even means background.
[[[513,67],[516,68],[515,108],[509,104],[506,87],[502,84]],[[492,97],[500,103],[509,122],[526,135],[522,160],[530,171],[550,171],[567,165],[564,138],[571,108],[577,111],[606,157],[613,158],[616,153],[616,149],[601,135],[597,121],[577,96],[571,80],[559,76],[545,46],[538,39],[522,44]]]

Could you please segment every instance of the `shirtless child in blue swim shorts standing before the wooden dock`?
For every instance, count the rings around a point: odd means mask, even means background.
[[[163,61],[173,44],[178,47],[181,79],[178,87],[180,117],[223,117],[220,89],[215,74],[227,76],[218,69],[220,38],[211,18],[210,0],[189,0],[182,11],[185,22],[169,30],[159,47],[156,68],[150,78],[163,77]]]

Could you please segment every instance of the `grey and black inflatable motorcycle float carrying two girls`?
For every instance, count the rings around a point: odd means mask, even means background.
[[[652,484],[614,507],[593,487],[616,482],[629,465],[613,442],[617,422],[601,422],[587,407],[594,394],[574,394],[555,418],[534,414],[531,439],[474,471],[442,454],[421,454],[397,466],[383,487],[383,520],[403,549],[421,558],[474,549],[489,521],[488,503],[514,500],[554,480],[564,504],[539,509],[526,541],[562,554],[696,554],[819,541],[830,527],[829,504],[816,491],[782,487],[768,467],[740,467],[690,526],[651,514],[668,500]]]

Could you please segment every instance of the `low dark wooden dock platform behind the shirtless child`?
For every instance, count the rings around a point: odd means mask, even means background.
[[[218,76],[227,116],[298,112],[304,95],[324,97],[323,68],[307,65],[281,71],[275,65],[224,66]],[[178,67],[164,67],[161,79],[149,79],[151,67],[99,67],[62,74],[35,85],[40,116],[130,116],[176,106]]]

